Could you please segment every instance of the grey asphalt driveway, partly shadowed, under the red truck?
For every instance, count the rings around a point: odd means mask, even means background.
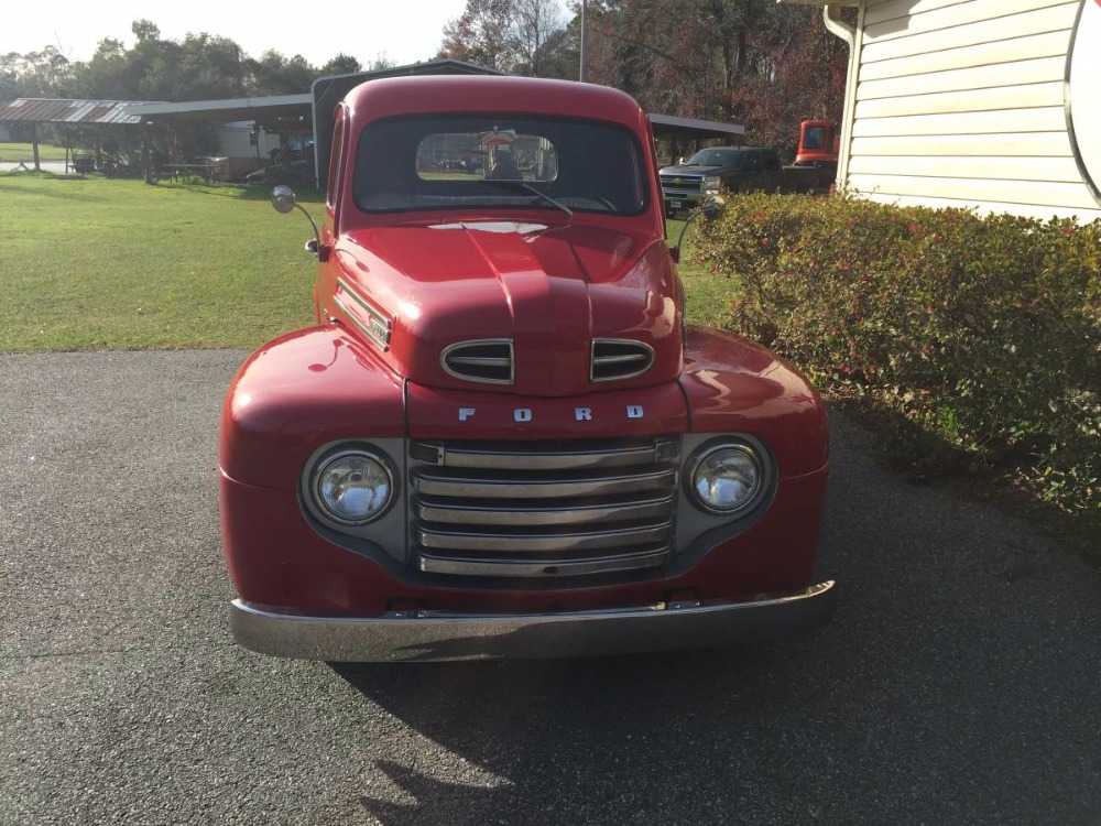
[[[1101,818],[1101,576],[833,417],[831,627],[656,657],[340,666],[227,630],[241,352],[0,355],[0,824]]]

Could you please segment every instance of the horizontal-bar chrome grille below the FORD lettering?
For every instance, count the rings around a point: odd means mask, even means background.
[[[678,465],[674,438],[412,443],[414,564],[543,578],[662,565]]]

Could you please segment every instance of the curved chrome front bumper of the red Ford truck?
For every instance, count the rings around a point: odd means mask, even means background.
[[[759,642],[824,626],[836,607],[830,580],[748,601],[537,615],[304,617],[235,599],[230,621],[241,645],[274,656],[330,662],[535,660]]]

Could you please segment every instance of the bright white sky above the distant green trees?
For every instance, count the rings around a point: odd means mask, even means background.
[[[301,54],[320,67],[341,52],[363,66],[379,57],[397,65],[430,59],[443,41],[444,26],[462,14],[466,0],[308,4],[277,0],[57,0],[46,6],[13,0],[4,6],[0,55],[41,52],[50,45],[69,61],[87,61],[103,37],[132,46],[130,24],[144,18],[156,24],[165,40],[206,32],[236,41],[250,57],[274,48],[286,57]]]

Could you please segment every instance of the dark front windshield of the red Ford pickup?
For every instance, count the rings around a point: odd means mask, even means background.
[[[356,155],[356,204],[369,213],[525,208],[637,215],[645,167],[632,132],[610,123],[515,115],[372,123]]]

